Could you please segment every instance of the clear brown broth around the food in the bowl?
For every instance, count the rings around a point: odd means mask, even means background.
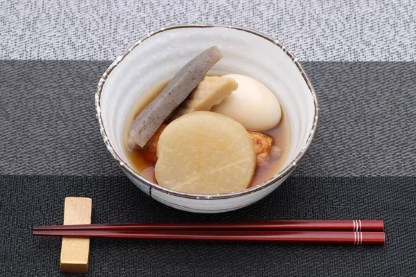
[[[152,181],[155,184],[157,184],[155,178],[155,163],[146,161],[144,159],[144,153],[140,149],[135,149],[132,152],[130,152],[127,147],[127,139],[128,132],[136,116],[140,113],[142,109],[144,109],[144,107],[146,107],[146,105],[148,105],[148,103],[150,103],[150,101],[153,100],[153,98],[157,96],[157,94],[159,94],[162,91],[162,89],[164,89],[164,87],[166,87],[166,84],[168,84],[168,82],[169,80],[165,80],[164,82],[157,84],[152,89],[149,89],[148,93],[145,93],[145,96],[143,98],[140,98],[137,104],[134,105],[134,108],[132,109],[132,111],[130,111],[130,114],[128,115],[125,124],[124,148],[125,152],[128,153],[128,160],[130,161],[133,170],[139,172],[141,176],[145,177],[146,179]],[[286,161],[288,151],[290,148],[291,129],[289,127],[288,118],[286,116],[286,113],[284,112],[283,107],[281,109],[281,112],[282,114],[279,125],[263,133],[268,134],[268,136],[271,136],[273,139],[273,145],[276,145],[277,147],[281,148],[283,152],[279,159],[271,159],[270,157],[266,164],[264,164],[263,166],[256,167],[254,177],[248,188],[257,186],[263,183],[264,181],[267,181],[283,169],[284,161]]]

